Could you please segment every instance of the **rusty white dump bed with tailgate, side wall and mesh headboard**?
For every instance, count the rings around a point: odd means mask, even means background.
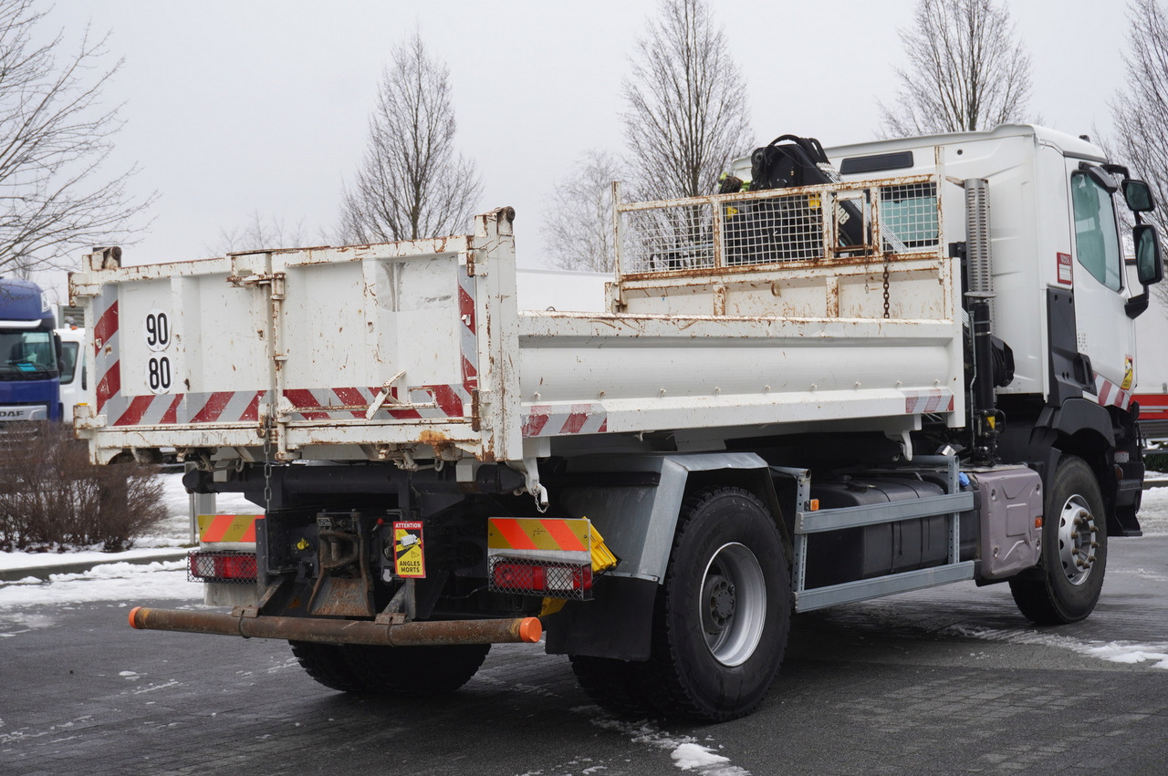
[[[828,217],[795,259],[773,239],[729,258],[718,219],[659,229],[639,238],[647,264],[623,266],[607,313],[517,309],[508,209],[437,240],[139,267],[95,253],[71,278],[96,376],[79,434],[100,462],[175,447],[410,466],[522,461],[620,433],[683,443],[832,428],[899,438],[924,414],[958,425],[959,272],[940,250],[939,180],[895,183],[896,196],[932,187],[913,200],[931,209],[913,229],[931,237],[911,246],[881,236],[892,205],[875,184],[736,196],[738,212],[793,209],[800,228],[809,210]],[[836,245],[837,197],[858,197],[869,244]],[[704,200],[707,212],[724,215],[724,200]],[[655,267],[652,240],[680,236],[725,251],[703,263],[670,247]]]

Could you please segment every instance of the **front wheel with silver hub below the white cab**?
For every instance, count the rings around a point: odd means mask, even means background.
[[[1064,456],[1047,492],[1038,567],[1010,580],[1018,610],[1040,624],[1083,620],[1094,609],[1107,568],[1107,515],[1099,482],[1083,459]]]

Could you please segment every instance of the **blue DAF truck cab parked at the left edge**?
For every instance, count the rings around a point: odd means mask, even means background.
[[[0,278],[0,429],[61,420],[61,340],[40,286]]]

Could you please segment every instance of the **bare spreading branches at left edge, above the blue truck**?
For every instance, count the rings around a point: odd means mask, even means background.
[[[103,68],[106,39],[88,32],[69,55],[61,34],[37,42],[44,13],[33,6],[0,0],[0,270],[25,273],[130,242],[154,200],[130,196],[134,168],[104,169],[121,120],[100,96],[121,62]]]

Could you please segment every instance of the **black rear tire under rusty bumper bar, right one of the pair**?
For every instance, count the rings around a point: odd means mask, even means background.
[[[364,692],[429,698],[454,692],[478,672],[491,644],[345,646]]]

